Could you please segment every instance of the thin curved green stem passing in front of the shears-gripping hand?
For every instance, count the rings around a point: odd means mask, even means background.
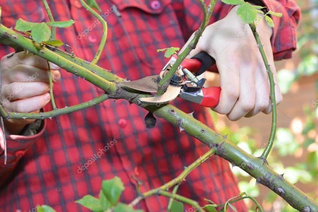
[[[270,84],[270,99],[272,102],[272,127],[271,127],[271,132],[270,132],[270,135],[268,138],[268,142],[267,142],[266,147],[264,149],[264,152],[261,156],[264,160],[266,160],[269,152],[271,151],[271,149],[273,147],[275,133],[276,133],[276,127],[277,127],[277,109],[276,109],[276,98],[275,98],[275,85],[276,84],[274,81],[273,72],[270,68],[270,65],[269,65],[267,57],[266,57],[266,53],[265,53],[263,45],[260,41],[259,34],[256,31],[256,25],[250,24],[250,27],[252,29],[256,43],[259,47],[259,52],[262,55],[262,58],[263,58],[263,61],[264,61],[265,67],[266,67],[266,71],[268,74],[269,84]]]

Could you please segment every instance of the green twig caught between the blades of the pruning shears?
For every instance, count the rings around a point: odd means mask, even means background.
[[[176,62],[173,64],[173,66],[171,67],[169,72],[167,72],[167,74],[158,83],[157,95],[161,95],[166,91],[166,89],[170,83],[170,80],[171,80],[172,76],[174,75],[174,73],[176,72],[177,68],[182,63],[182,61],[186,58],[186,56],[190,53],[190,51],[196,48],[197,43],[199,41],[199,38],[201,37],[205,27],[209,23],[209,20],[210,20],[212,11],[214,9],[214,5],[215,5],[216,0],[211,0],[211,2],[209,3],[209,6],[208,6],[208,10],[206,8],[204,0],[199,0],[199,2],[201,3],[201,7],[203,10],[203,21],[202,21],[199,29],[194,33],[194,37],[192,38],[190,43],[179,54],[178,58],[176,59]]]

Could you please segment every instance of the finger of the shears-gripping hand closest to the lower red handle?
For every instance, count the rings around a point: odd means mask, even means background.
[[[239,98],[239,70],[233,64],[232,67],[228,67],[219,59],[216,62],[220,73],[221,94],[218,106],[211,109],[220,114],[228,114]]]

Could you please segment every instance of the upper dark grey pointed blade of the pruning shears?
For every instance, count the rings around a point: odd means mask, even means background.
[[[158,90],[158,75],[148,76],[130,82],[122,82],[124,87],[132,88],[137,91],[157,92]]]

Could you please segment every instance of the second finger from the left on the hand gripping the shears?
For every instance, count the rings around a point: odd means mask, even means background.
[[[245,116],[255,106],[255,68],[256,64],[242,64],[240,68],[240,93],[232,111],[227,114],[229,120],[236,121]]]

